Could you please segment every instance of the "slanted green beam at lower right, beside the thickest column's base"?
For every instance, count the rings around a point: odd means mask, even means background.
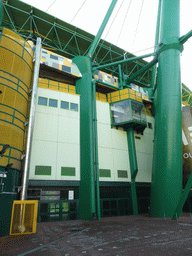
[[[183,206],[184,206],[184,204],[187,200],[187,197],[189,195],[191,187],[192,187],[192,173],[189,176],[189,179],[187,181],[185,189],[182,192],[182,195],[181,195],[181,198],[180,198],[179,203],[177,205],[177,208],[176,208],[176,210],[173,214],[173,217],[172,217],[173,220],[176,220],[178,218],[178,216],[180,216],[182,214],[182,209],[183,209]]]

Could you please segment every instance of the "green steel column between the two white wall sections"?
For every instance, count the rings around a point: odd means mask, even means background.
[[[91,60],[88,57],[78,56],[73,62],[77,64],[82,74],[82,78],[76,81],[76,92],[80,94],[79,211],[80,219],[91,220],[96,215]]]

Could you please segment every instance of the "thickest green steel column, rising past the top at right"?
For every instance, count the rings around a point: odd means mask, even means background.
[[[180,0],[162,0],[150,214],[172,217],[182,191]]]

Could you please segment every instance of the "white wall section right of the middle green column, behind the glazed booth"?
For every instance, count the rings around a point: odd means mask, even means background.
[[[100,181],[131,181],[127,133],[122,129],[111,129],[109,103],[97,101],[99,169],[110,169],[111,177],[100,177]],[[147,116],[153,129],[146,128],[143,135],[136,134],[138,161],[137,182],[151,182],[154,118]],[[127,178],[118,178],[117,170],[127,170]]]

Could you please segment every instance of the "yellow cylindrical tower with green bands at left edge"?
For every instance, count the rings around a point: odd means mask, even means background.
[[[0,159],[0,166],[13,163],[21,169],[24,150],[28,95],[33,72],[33,50],[15,32],[2,28],[0,34],[0,150],[10,148]]]

